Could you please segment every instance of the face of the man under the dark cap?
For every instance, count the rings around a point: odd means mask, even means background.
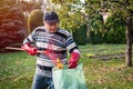
[[[59,28],[59,22],[54,22],[54,23],[47,23],[44,21],[44,27],[47,30],[49,30],[49,32],[57,32],[58,28]]]

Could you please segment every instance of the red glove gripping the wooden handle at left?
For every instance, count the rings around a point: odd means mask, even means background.
[[[24,43],[23,46],[21,46],[21,49],[23,49],[31,56],[37,55],[37,48],[31,47],[30,43]]]

